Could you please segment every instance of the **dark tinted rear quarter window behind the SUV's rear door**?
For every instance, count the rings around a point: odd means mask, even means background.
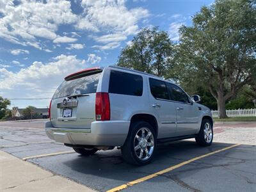
[[[111,70],[109,78],[109,93],[141,96],[143,79],[141,76]]]

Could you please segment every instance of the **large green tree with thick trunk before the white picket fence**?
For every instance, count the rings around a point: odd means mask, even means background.
[[[202,6],[193,26],[180,28],[172,76],[209,89],[219,118],[227,118],[226,101],[256,76],[255,8],[255,1],[216,0]]]

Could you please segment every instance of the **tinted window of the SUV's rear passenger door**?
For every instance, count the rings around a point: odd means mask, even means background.
[[[156,99],[170,100],[169,94],[166,88],[166,84],[164,83],[164,81],[159,81],[157,79],[149,78],[149,84],[150,84],[150,91]]]

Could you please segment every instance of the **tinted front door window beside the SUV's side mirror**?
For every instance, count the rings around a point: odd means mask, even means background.
[[[168,83],[168,91],[172,95],[172,100],[179,101],[179,102],[185,102],[190,103],[188,99],[188,95],[183,92],[182,89],[179,88],[179,86],[176,86],[175,84]]]

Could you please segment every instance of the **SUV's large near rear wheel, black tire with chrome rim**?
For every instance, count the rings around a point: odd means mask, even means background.
[[[144,165],[150,163],[156,152],[156,133],[147,122],[134,122],[124,146],[122,156],[131,164]]]

